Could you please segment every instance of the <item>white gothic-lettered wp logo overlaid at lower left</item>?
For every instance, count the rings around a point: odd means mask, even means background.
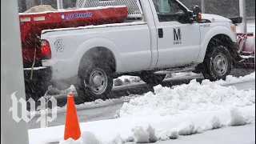
[[[30,112],[29,117],[26,114],[26,100],[24,100],[23,98],[20,98],[18,100],[18,98],[16,97],[16,92],[14,92],[13,94],[11,94],[10,98],[12,99],[12,106],[10,107],[10,111],[12,112],[12,118],[14,119],[14,121],[16,122],[20,122],[22,119],[25,122],[30,122],[30,120],[32,118],[35,117],[35,113],[34,112]],[[37,107],[38,110],[40,110],[40,116],[37,119],[37,122],[41,122],[41,128],[44,128],[47,126],[47,122],[53,122],[54,119],[57,118],[57,100],[54,97],[51,97],[50,99],[48,99],[46,101],[46,98],[40,98],[38,101],[40,101],[40,105]],[[52,106],[51,106],[51,117],[48,116],[47,114],[47,102],[51,102]],[[18,117],[18,102],[21,104],[22,106],[22,118]],[[30,98],[27,102],[30,103],[30,111],[35,110],[35,101],[33,98]]]

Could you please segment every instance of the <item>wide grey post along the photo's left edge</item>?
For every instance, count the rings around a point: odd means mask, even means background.
[[[25,98],[18,1],[1,0],[1,143],[29,144],[26,122],[15,122],[10,112],[15,91],[18,99]]]

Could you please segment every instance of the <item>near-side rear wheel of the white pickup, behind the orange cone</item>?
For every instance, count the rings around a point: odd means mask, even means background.
[[[109,98],[113,87],[113,70],[110,67],[106,63],[94,63],[79,69],[80,82],[76,90],[83,102]]]

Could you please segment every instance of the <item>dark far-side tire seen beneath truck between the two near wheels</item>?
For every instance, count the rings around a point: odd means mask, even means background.
[[[145,73],[140,75],[140,78],[148,84],[159,84],[166,78],[166,74]]]

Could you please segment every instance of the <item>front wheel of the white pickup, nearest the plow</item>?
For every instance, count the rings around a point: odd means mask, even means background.
[[[202,74],[210,81],[226,79],[232,69],[232,58],[229,50],[223,46],[212,47],[206,52],[202,65]]]

